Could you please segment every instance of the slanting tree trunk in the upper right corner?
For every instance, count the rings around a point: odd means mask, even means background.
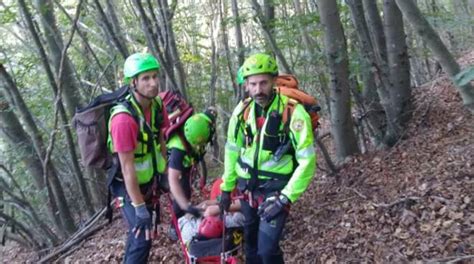
[[[456,74],[458,74],[460,71],[459,64],[443,44],[436,31],[423,17],[418,7],[411,0],[396,0],[396,3],[403,12],[403,16],[408,20],[415,31],[423,38],[423,41],[425,41],[425,43],[428,45],[431,52],[433,52],[433,54],[439,60],[443,66],[443,69],[448,73],[448,75],[453,78]],[[472,113],[474,113],[474,88],[472,85],[468,83],[457,88],[461,94],[464,105]]]

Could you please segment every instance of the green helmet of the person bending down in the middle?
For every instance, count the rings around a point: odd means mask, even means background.
[[[204,113],[192,115],[184,123],[184,137],[193,146],[204,146],[212,131],[212,120]]]

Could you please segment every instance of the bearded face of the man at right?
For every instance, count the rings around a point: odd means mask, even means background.
[[[273,76],[270,74],[257,74],[247,77],[246,88],[255,102],[261,107],[266,107],[273,98]]]

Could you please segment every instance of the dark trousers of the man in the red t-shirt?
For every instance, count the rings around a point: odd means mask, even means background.
[[[114,197],[123,197],[123,206],[121,211],[123,216],[128,222],[128,237],[125,245],[125,257],[123,263],[126,264],[139,264],[147,263],[148,256],[150,255],[151,239],[145,239],[145,232],[140,232],[138,238],[135,238],[135,234],[132,229],[135,227],[135,208],[133,207],[130,197],[125,189],[125,184],[120,181],[114,180],[111,184],[111,191]],[[150,208],[150,215],[152,214]]]

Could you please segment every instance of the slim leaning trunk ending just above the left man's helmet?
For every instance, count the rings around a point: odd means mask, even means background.
[[[102,22],[104,25],[104,31],[110,43],[114,45],[114,47],[118,50],[118,52],[120,52],[120,54],[122,55],[124,59],[127,58],[129,53],[128,53],[127,45],[125,44],[125,40],[123,39],[121,35],[121,31],[115,31],[119,29],[120,26],[118,24],[112,24],[114,22],[113,17],[111,17],[112,22],[109,21],[109,18],[105,14],[104,8],[102,8],[102,5],[100,4],[99,0],[94,0],[94,4],[100,16],[100,22]],[[109,2],[107,2],[107,5],[108,4]],[[108,11],[109,13],[113,12],[110,9]]]

